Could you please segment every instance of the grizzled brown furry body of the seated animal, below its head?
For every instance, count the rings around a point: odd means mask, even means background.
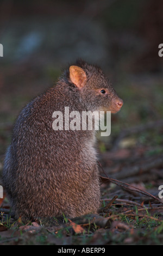
[[[90,132],[52,129],[53,111],[64,106],[56,93],[51,89],[30,102],[14,127],[3,181],[16,217],[75,217],[99,205],[96,151],[85,136]]]

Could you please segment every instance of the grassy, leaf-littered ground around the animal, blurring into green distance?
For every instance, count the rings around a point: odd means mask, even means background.
[[[4,69],[1,77],[1,171],[17,114],[59,74],[57,70],[47,70],[41,77],[40,71],[29,69],[24,76],[23,68],[7,70],[9,76],[5,76]],[[97,139],[101,175],[134,188],[111,181],[103,183],[101,218],[89,216],[71,222],[63,216],[62,223],[51,227],[10,218],[10,205],[4,197],[0,204],[1,245],[162,245],[163,205],[140,191],[158,198],[158,187],[163,185],[162,80],[160,76],[121,76],[116,90],[124,106],[120,113],[112,115],[111,136]]]

